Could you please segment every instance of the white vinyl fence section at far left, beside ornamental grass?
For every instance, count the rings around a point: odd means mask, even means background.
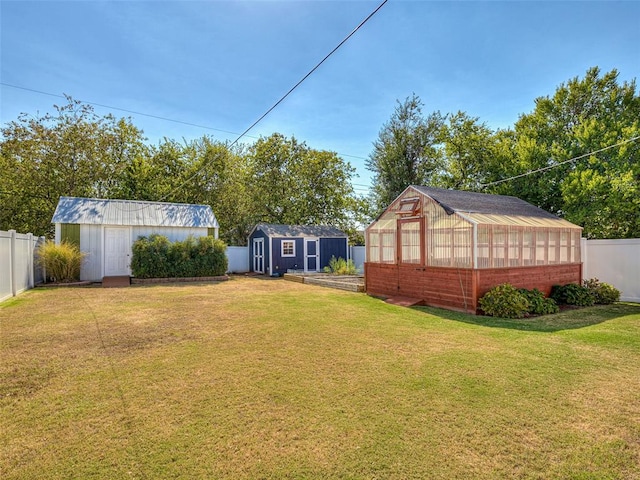
[[[36,264],[40,242],[44,242],[44,237],[0,230],[0,302],[44,280]]]

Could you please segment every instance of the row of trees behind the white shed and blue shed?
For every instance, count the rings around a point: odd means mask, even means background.
[[[2,127],[0,229],[51,236],[61,195],[208,204],[231,245],[245,244],[257,222],[355,232],[362,221],[354,168],[295,138],[275,133],[232,147],[204,136],[149,145],[130,120],[100,117],[71,98],[55,111]]]

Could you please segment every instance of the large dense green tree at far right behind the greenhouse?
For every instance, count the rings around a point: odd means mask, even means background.
[[[584,227],[590,238],[640,236],[640,135],[635,81],[597,67],[561,84],[515,125],[519,173],[546,169],[503,185],[541,208]],[[589,152],[596,152],[585,158]]]

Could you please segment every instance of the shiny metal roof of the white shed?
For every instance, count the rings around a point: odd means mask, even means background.
[[[51,223],[218,228],[209,205],[60,197]]]

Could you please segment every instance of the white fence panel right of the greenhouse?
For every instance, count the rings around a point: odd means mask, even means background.
[[[620,290],[620,299],[640,302],[640,238],[582,239],[582,276]]]

